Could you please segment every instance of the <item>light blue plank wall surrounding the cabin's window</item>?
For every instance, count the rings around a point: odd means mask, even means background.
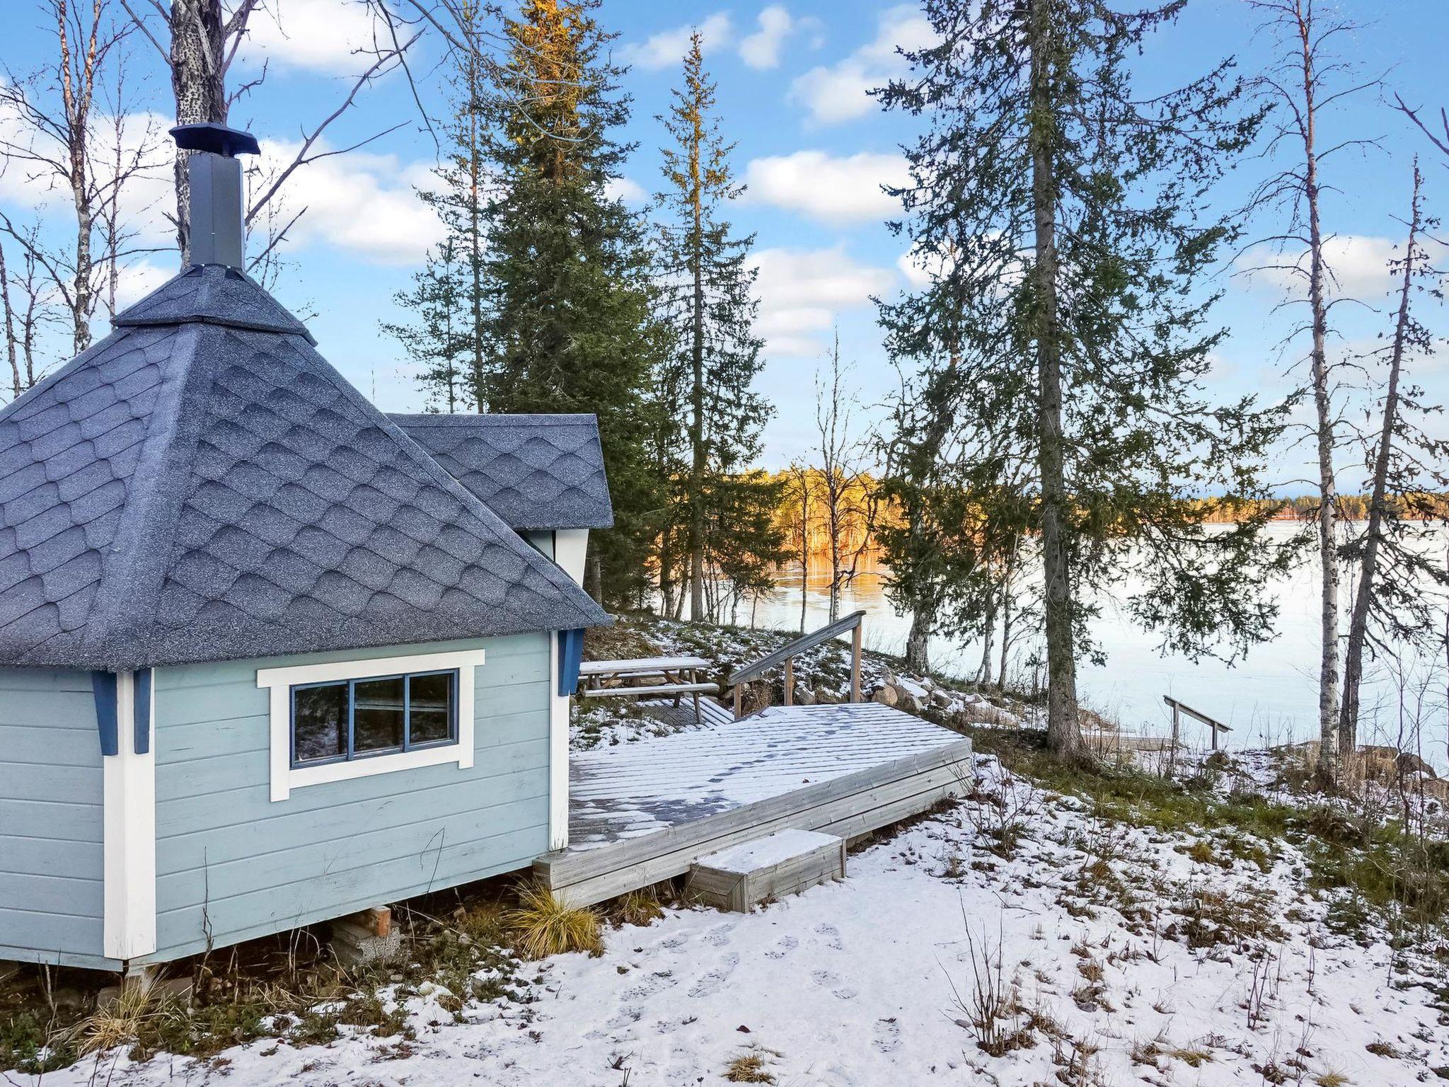
[[[548,849],[549,633],[158,668],[156,954],[170,959],[525,868]],[[485,651],[471,770],[270,797],[256,670]]]

